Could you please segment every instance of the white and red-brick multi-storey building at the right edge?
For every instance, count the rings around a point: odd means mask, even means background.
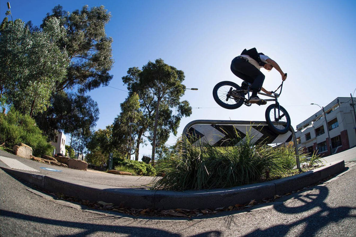
[[[320,156],[329,156],[356,146],[356,122],[350,103],[350,97],[337,97],[324,106],[327,123],[323,110],[299,123],[295,133],[298,147],[304,147],[304,150],[311,154],[317,152]]]

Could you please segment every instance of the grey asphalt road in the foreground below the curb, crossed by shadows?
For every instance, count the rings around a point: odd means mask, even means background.
[[[194,220],[77,210],[29,188],[0,169],[0,236],[356,236],[356,166],[272,205]]]

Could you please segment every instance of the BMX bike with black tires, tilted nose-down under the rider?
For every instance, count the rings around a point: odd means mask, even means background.
[[[285,74],[287,75],[287,73]],[[281,88],[279,93],[276,91]],[[278,98],[282,93],[282,84],[275,91],[271,91],[272,95],[259,92],[258,94],[268,96],[274,99],[263,99],[258,105],[267,104],[267,101],[275,101],[267,107],[265,112],[266,122],[268,127],[277,134],[284,134],[289,131],[290,117],[286,109],[278,103]],[[214,86],[213,97],[216,103],[225,109],[237,109],[242,104],[251,106],[250,102],[251,84],[243,81],[241,87],[232,81],[221,81]],[[247,98],[245,98],[247,95]]]

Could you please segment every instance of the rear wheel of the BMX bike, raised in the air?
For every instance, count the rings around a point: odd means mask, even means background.
[[[227,93],[229,92],[230,88],[232,90],[241,90],[240,86],[232,81],[221,81],[214,86],[213,89],[213,98],[218,105],[225,109],[234,110],[244,104],[244,99],[233,99],[227,98]],[[239,94],[240,96],[245,98],[243,92]],[[227,101],[226,101],[227,99]]]

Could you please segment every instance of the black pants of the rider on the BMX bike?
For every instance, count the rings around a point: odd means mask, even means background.
[[[265,80],[265,75],[263,75],[263,73],[261,73],[261,71],[251,63],[243,58],[236,57],[232,59],[230,69],[236,77],[251,83],[251,88],[253,89],[254,93],[257,94],[257,92],[261,91],[263,81]]]

